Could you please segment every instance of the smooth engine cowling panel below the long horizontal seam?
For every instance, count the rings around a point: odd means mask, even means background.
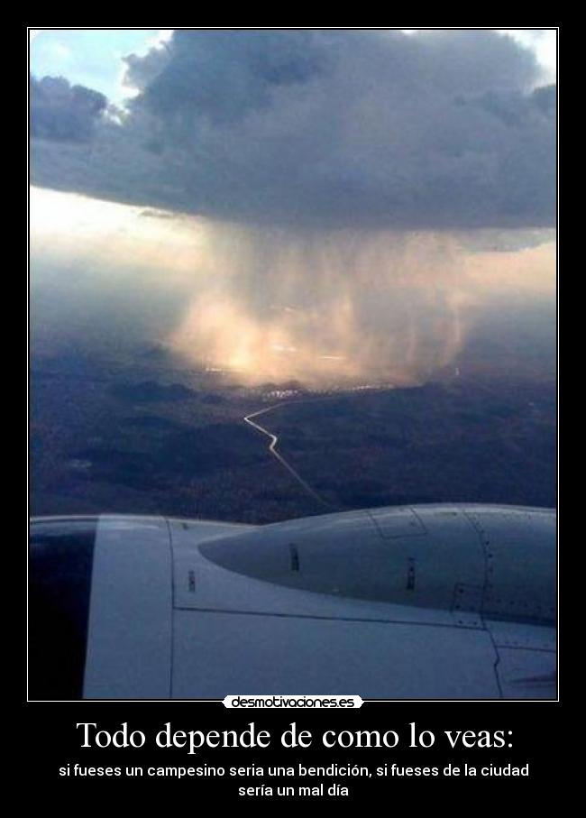
[[[358,694],[498,698],[486,631],[174,612],[173,698]]]

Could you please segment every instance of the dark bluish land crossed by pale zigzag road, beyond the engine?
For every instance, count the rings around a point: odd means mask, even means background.
[[[455,366],[420,386],[321,391],[245,387],[157,345],[95,357],[39,350],[32,514],[268,523],[417,502],[553,507],[554,345],[536,354],[527,342],[515,357],[506,334],[501,343],[506,353],[471,342]],[[268,407],[258,421],[322,503],[243,421]]]

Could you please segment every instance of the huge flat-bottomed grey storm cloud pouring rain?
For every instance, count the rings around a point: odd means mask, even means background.
[[[182,31],[126,66],[124,124],[91,157],[33,145],[38,184],[256,224],[554,222],[554,88],[496,32]]]

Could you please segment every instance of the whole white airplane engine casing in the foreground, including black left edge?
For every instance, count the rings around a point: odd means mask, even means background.
[[[555,513],[32,521],[30,696],[556,696]]]

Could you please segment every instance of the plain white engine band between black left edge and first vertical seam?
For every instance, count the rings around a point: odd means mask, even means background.
[[[168,698],[171,553],[162,518],[101,517],[87,631],[84,698]]]

